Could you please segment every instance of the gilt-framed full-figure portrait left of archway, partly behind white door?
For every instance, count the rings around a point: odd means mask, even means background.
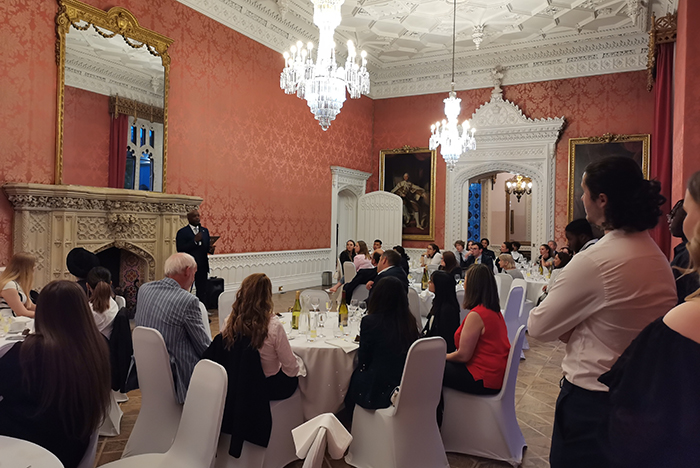
[[[435,151],[409,146],[380,151],[379,190],[403,200],[404,240],[435,240]]]

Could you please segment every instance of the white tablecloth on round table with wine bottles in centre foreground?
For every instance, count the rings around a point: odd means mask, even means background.
[[[328,330],[325,333],[331,335]],[[322,413],[338,412],[350,386],[357,351],[346,353],[324,341],[331,338],[308,342],[305,337],[297,336],[289,342],[294,354],[306,365],[307,374],[299,378],[299,390],[307,421]]]

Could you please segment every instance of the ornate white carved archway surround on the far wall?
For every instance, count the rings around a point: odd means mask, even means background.
[[[476,150],[462,155],[447,173],[445,244],[466,237],[469,181],[492,172],[520,173],[532,178],[532,242],[554,235],[555,145],[564,118],[529,119],[504,100],[496,86],[491,100],[474,112]]]

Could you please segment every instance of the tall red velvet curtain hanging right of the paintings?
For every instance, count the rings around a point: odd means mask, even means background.
[[[651,236],[670,255],[671,233],[666,224],[666,214],[671,211],[671,168],[673,165],[673,46],[659,44],[656,55],[656,82],[654,84],[654,133],[651,138],[651,178],[661,182],[661,193],[666,203],[661,207],[664,214]]]

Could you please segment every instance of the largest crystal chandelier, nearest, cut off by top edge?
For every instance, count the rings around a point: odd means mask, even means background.
[[[345,102],[345,89],[351,99],[369,93],[367,53],[360,54],[361,63],[356,63],[357,53],[352,41],[348,41],[348,59],[345,67],[335,63],[333,34],[340,25],[340,6],[344,0],[312,0],[314,24],[320,31],[316,62],[311,57],[313,44],[304,48],[301,41],[284,53],[284,70],[280,75],[280,88],[285,94],[296,93],[306,103],[324,131],[340,113]]]

